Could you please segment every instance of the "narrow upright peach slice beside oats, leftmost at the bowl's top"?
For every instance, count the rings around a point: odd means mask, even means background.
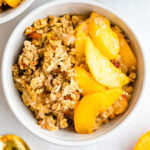
[[[79,25],[76,29],[75,48],[77,59],[81,59],[81,57],[85,56],[86,38],[87,38],[87,24],[86,22],[84,22],[81,25]]]

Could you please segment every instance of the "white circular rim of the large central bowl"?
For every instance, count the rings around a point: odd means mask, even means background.
[[[4,54],[3,54],[3,59],[2,59],[2,64],[1,64],[1,74],[2,74],[2,87],[3,87],[3,91],[4,91],[4,95],[5,95],[5,98],[8,102],[8,105],[9,107],[11,108],[13,114],[16,116],[16,118],[19,120],[19,122],[27,129],[29,130],[32,134],[36,135],[37,137],[47,141],[47,142],[50,142],[50,143],[53,143],[53,144],[57,144],[57,145],[62,145],[62,146],[84,146],[84,145],[89,145],[89,144],[94,144],[96,142],[100,142],[100,141],[103,141],[107,138],[109,138],[110,136],[114,135],[118,130],[121,130],[123,127],[125,127],[125,125],[127,125],[127,123],[132,119],[133,117],[133,114],[135,113],[135,110],[138,110],[139,108],[139,104],[141,104],[141,100],[143,97],[144,97],[144,91],[146,90],[146,81],[147,81],[147,70],[145,68],[146,67],[146,60],[148,60],[148,57],[146,55],[146,51],[141,51],[142,52],[142,55],[143,55],[143,62],[144,62],[144,77],[143,77],[143,85],[142,85],[142,88],[141,88],[141,92],[139,94],[139,98],[136,102],[136,104],[134,105],[134,107],[132,108],[132,110],[130,111],[130,113],[124,118],[124,120],[119,123],[117,125],[117,127],[111,129],[110,132],[108,133],[105,133],[104,135],[101,135],[99,137],[96,137],[96,138],[93,138],[93,139],[90,139],[90,140],[85,140],[85,141],[78,141],[78,142],[72,142],[72,141],[63,141],[63,140],[59,140],[59,139],[54,139],[52,137],[49,137],[49,139],[46,139],[42,134],[38,134],[37,132],[33,131],[32,130],[32,127],[29,127],[27,126],[27,124],[24,124],[23,120],[21,119],[21,117],[18,115],[17,113],[17,110],[15,110],[15,108],[13,108],[11,106],[11,96],[9,95],[9,92],[7,92],[7,85],[5,84],[5,65],[7,64],[7,54],[9,54],[9,43],[11,41],[11,39],[15,36],[15,32],[17,32],[19,26],[21,26],[22,24],[24,24],[24,22],[26,22],[28,20],[28,17],[32,14],[36,14],[37,12],[39,11],[42,11],[44,9],[46,9],[47,7],[49,6],[56,6],[56,5],[60,5],[60,4],[73,4],[73,3],[79,3],[79,4],[90,4],[90,5],[93,5],[93,6],[98,6],[100,8],[104,8],[106,9],[107,11],[111,12],[112,14],[114,14],[116,17],[120,18],[122,20],[122,22],[124,22],[127,27],[132,31],[133,35],[136,37],[136,40],[141,48],[141,50],[144,50],[145,47],[144,45],[142,44],[142,39],[140,39],[140,37],[138,36],[139,34],[137,34],[137,31],[135,32],[135,27],[134,25],[132,24],[129,24],[127,19],[120,15],[120,13],[117,13],[115,10],[113,10],[112,8],[108,7],[107,5],[101,3],[101,2],[98,2],[98,1],[87,1],[87,0],[61,0],[61,1],[51,1],[51,2],[48,2],[48,3],[45,3],[39,7],[37,7],[36,9],[34,9],[32,12],[30,12],[24,19],[22,19],[22,21],[16,26],[16,28],[14,29],[14,31],[12,32],[11,36],[9,37],[9,40],[6,44],[6,47],[5,47],[5,50],[4,50]]]

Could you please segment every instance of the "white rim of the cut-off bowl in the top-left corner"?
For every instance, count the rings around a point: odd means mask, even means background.
[[[0,17],[0,24],[3,24],[5,22],[8,22],[15,17],[19,16],[21,13],[23,13],[32,3],[34,0],[25,0],[22,4],[20,4],[17,8],[14,9],[11,13]]]

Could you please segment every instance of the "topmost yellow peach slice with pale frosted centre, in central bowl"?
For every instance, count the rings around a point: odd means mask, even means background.
[[[108,59],[114,59],[119,54],[119,40],[110,27],[109,20],[93,12],[88,22],[89,35],[100,52]]]

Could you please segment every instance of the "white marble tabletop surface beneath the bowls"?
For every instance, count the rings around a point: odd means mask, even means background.
[[[4,51],[7,39],[18,22],[30,11],[39,5],[50,0],[35,0],[35,2],[22,15],[12,21],[0,25],[0,61]],[[144,42],[147,52],[150,45],[150,1],[149,0],[99,0],[102,3],[116,9],[122,15],[135,25],[141,39]],[[149,62],[150,63],[150,62]],[[147,83],[147,88],[148,88]],[[139,136],[150,130],[150,94],[145,93],[146,98],[141,99],[142,103],[133,119],[128,122],[127,126],[113,137],[102,143],[84,146],[82,150],[131,150]],[[31,147],[31,150],[79,150],[81,147],[62,147],[47,143],[26,130],[14,117],[4,98],[1,81],[0,81],[0,134],[13,133],[20,135]]]

